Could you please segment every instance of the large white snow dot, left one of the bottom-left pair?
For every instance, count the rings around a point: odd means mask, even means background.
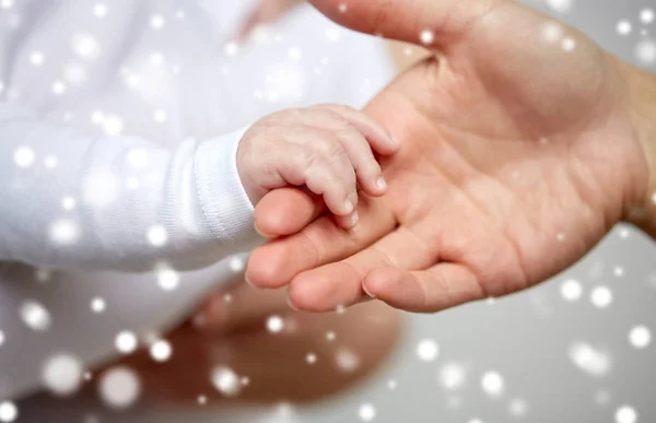
[[[57,396],[70,396],[78,391],[84,373],[82,363],[70,354],[57,354],[43,367],[44,386]]]

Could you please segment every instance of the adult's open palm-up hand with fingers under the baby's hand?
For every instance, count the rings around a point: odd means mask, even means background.
[[[351,232],[321,216],[255,250],[253,284],[291,281],[306,310],[365,291],[436,312],[560,272],[647,198],[649,118],[634,94],[653,81],[583,34],[514,0],[351,0],[345,13],[312,2],[350,28],[423,40],[433,54],[366,107],[401,143],[383,163],[388,193],[361,201]],[[294,234],[317,204],[271,192],[257,226]]]

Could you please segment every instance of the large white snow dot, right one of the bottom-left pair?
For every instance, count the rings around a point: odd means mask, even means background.
[[[141,383],[128,367],[115,367],[105,373],[98,384],[103,402],[113,409],[127,409],[139,399]]]

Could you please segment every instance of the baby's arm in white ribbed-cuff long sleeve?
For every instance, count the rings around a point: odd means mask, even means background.
[[[175,151],[0,104],[0,260],[54,269],[209,266],[257,240],[241,132]]]

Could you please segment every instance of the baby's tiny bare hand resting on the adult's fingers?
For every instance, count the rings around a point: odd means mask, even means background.
[[[398,150],[391,136],[361,111],[321,105],[269,115],[244,134],[237,169],[253,204],[270,190],[307,186],[323,196],[338,223],[358,223],[358,184],[373,197],[387,189],[373,151]]]

